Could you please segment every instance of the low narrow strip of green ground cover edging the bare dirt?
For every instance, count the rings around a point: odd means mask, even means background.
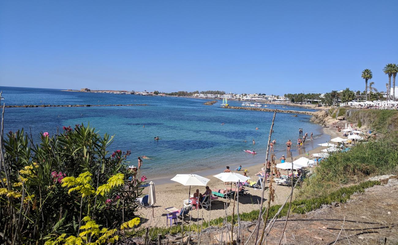
[[[357,185],[352,185],[344,188],[340,188],[339,190],[336,190],[332,193],[329,194],[323,194],[319,195],[314,198],[310,199],[296,199],[292,202],[291,206],[291,213],[295,214],[305,214],[306,212],[310,212],[312,210],[316,210],[320,208],[323,204],[332,204],[333,202],[340,202],[340,203],[345,203],[347,200],[350,198],[352,194],[355,192],[363,192],[366,188],[372,187],[374,185],[380,184],[379,181],[367,181],[367,182],[362,182]],[[322,192],[319,192],[322,193]],[[273,205],[269,208],[269,220],[272,219],[278,212],[279,208],[281,208],[282,205]],[[289,205],[285,205],[277,218],[281,218],[283,216],[287,215]],[[240,220],[242,221],[255,221],[258,219],[259,215],[259,210],[253,210],[248,213],[242,213],[240,214]],[[234,216],[235,220],[237,220],[237,216]],[[265,218],[265,217],[264,217]],[[231,222],[232,216],[227,217],[227,221]],[[211,221],[203,221],[203,229],[210,227],[210,226],[222,226],[223,225],[224,218],[220,217]],[[200,226],[199,226],[200,228]],[[190,231],[197,231],[198,227],[197,225],[184,225],[184,232],[187,232],[188,230]],[[135,235],[144,235],[145,231],[142,229],[141,231],[138,231],[135,233]],[[152,227],[150,229],[149,234],[152,234],[150,239],[156,239],[157,234],[162,234],[163,236],[166,234],[171,234],[175,235],[177,233],[181,233],[181,226],[173,226],[173,227]]]

